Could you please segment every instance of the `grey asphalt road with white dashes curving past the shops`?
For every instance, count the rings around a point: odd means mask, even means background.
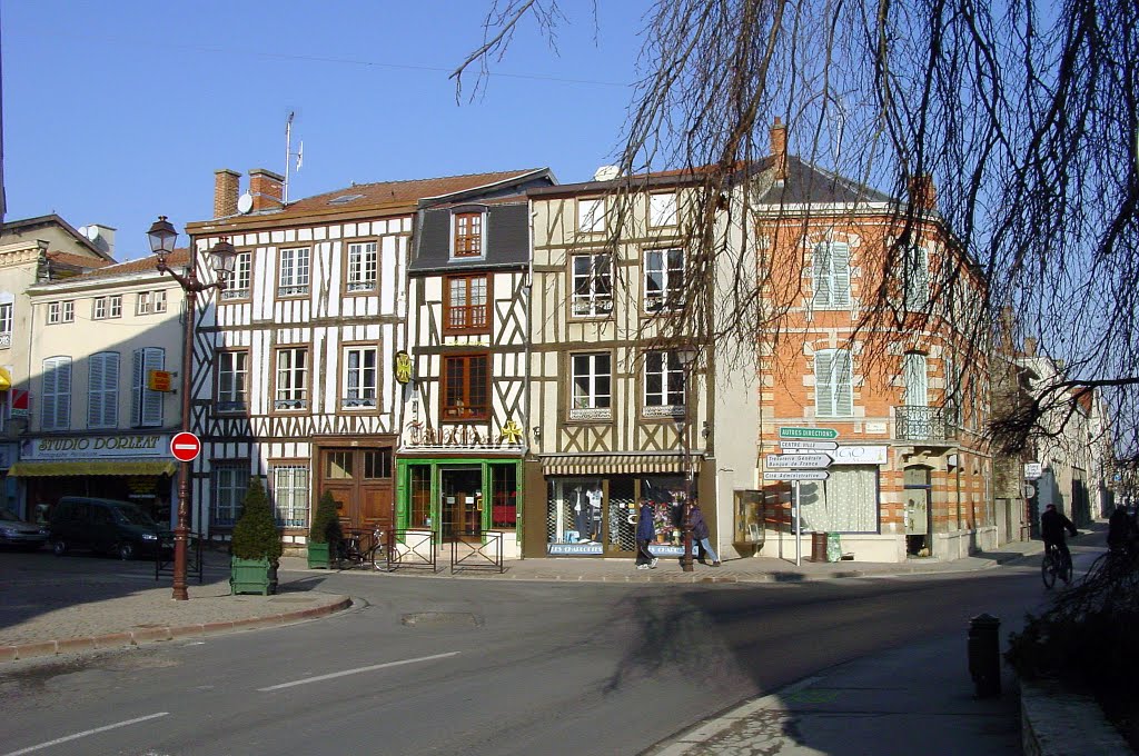
[[[1007,635],[1043,597],[1035,562],[747,586],[329,574],[321,590],[357,607],[0,668],[0,756],[638,754],[743,699],[934,638],[959,638],[944,664],[967,681],[968,619],[1000,616]]]

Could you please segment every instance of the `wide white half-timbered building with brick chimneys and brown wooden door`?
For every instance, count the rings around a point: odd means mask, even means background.
[[[407,274],[415,214],[524,172],[352,184],[284,204],[282,178],[216,172],[214,219],[187,231],[205,252],[239,253],[226,288],[199,306],[192,427],[195,527],[224,536],[251,476],[267,478],[286,548],[305,541],[312,502],[329,491],[349,528],[386,529],[408,352]]]

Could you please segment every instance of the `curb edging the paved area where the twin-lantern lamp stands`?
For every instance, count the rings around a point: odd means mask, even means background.
[[[15,646],[0,646],[0,663],[17,662],[22,659],[41,658],[44,656],[59,656],[62,654],[75,654],[82,651],[96,651],[112,648],[125,648],[131,646],[142,646],[144,643],[157,643],[183,638],[203,638],[206,635],[220,635],[238,630],[260,630],[287,625],[303,619],[314,619],[325,617],[336,611],[342,611],[352,606],[351,598],[343,598],[334,603],[322,607],[311,607],[296,611],[284,611],[279,614],[264,615],[261,617],[247,617],[228,622],[211,622],[197,625],[180,625],[165,627],[147,627],[124,633],[107,633],[105,635],[91,635],[87,638],[68,638],[65,640],[39,641],[35,643],[17,643]]]

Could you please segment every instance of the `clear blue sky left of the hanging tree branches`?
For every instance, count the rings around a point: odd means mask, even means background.
[[[448,74],[489,5],[2,0],[7,220],[104,223],[118,260],[142,256],[158,214],[211,216],[216,169],[282,173],[289,112],[293,198],[539,166],[589,179],[615,153],[648,2],[598,3],[595,25],[592,0],[563,0],[557,52],[528,20],[457,104]]]

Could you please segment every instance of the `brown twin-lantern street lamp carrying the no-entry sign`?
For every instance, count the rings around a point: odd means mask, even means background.
[[[179,276],[166,264],[166,257],[174,252],[174,240],[178,239],[178,230],[166,220],[165,215],[159,215],[158,220],[150,225],[147,231],[147,239],[150,241],[150,252],[158,257],[156,265],[159,273],[170,273],[171,278],[178,281],[186,293],[186,330],[182,336],[182,430],[190,432],[190,370],[194,367],[194,314],[199,291],[207,289],[226,288],[223,273],[233,272],[233,263],[237,261],[237,252],[233,245],[222,238],[210,250],[211,264],[218,274],[213,284],[204,284],[198,280],[197,264],[192,246],[188,262],[188,274]],[[190,531],[190,463],[182,462],[178,474],[178,525],[174,527],[174,600],[186,601],[190,598],[186,587],[186,541]]]

